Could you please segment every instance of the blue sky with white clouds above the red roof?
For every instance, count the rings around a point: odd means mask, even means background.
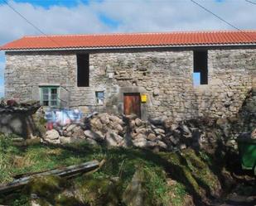
[[[252,0],[255,1],[256,0]],[[230,30],[190,0],[10,0],[46,34]],[[244,0],[197,0],[240,29],[255,29],[256,6]],[[0,45],[41,35],[0,0]],[[4,55],[0,52],[0,97]],[[198,78],[197,78],[198,79]]]

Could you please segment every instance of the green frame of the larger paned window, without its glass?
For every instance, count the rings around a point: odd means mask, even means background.
[[[60,107],[60,87],[59,86],[40,86],[40,104],[43,107],[50,108],[59,108]],[[48,100],[44,99],[43,89],[48,89]],[[56,100],[51,98],[52,93],[51,89],[56,89]],[[48,101],[48,105],[44,105],[44,102]],[[56,104],[52,104],[53,101],[56,101]]]

